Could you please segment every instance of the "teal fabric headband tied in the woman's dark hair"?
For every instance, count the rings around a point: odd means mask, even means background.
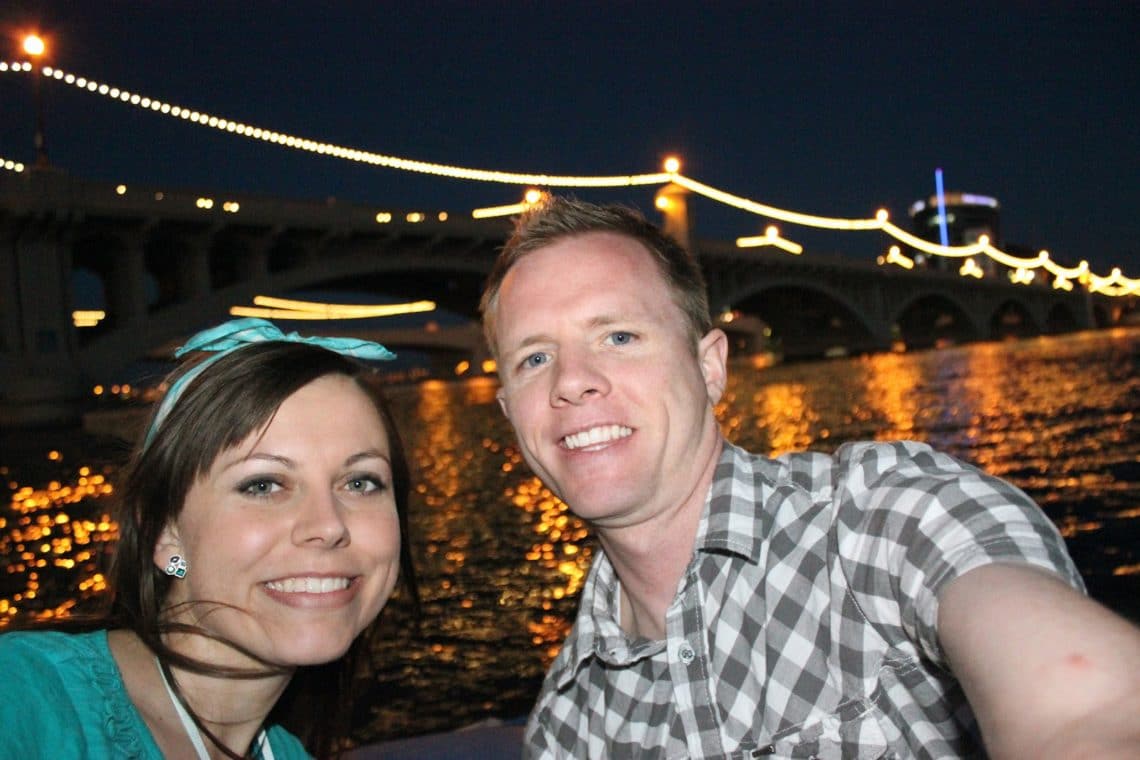
[[[394,353],[378,343],[361,341],[353,337],[320,337],[316,335],[302,337],[296,333],[282,333],[277,329],[276,325],[264,319],[246,318],[233,319],[228,322],[222,322],[217,327],[202,330],[187,341],[186,345],[182,345],[174,351],[176,357],[182,357],[193,351],[210,351],[213,352],[213,356],[198,365],[195,365],[170,386],[170,390],[166,391],[166,395],[162,398],[162,402],[158,404],[158,410],[155,412],[154,419],[150,422],[150,427],[147,430],[142,448],[146,449],[150,446],[154,434],[162,426],[162,423],[166,419],[170,410],[174,408],[176,403],[178,403],[178,399],[182,395],[182,391],[185,391],[186,386],[189,385],[195,377],[201,375],[206,367],[218,361],[227,353],[233,353],[243,346],[253,345],[254,343],[271,342],[308,343],[309,345],[320,346],[321,349],[327,349],[345,357],[369,361],[389,361],[396,358]]]

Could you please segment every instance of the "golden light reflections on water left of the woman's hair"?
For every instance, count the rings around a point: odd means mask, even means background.
[[[47,459],[59,461],[58,451]],[[5,473],[7,474],[7,473]],[[5,578],[0,596],[0,627],[17,614],[43,620],[66,616],[80,603],[107,589],[104,559],[119,539],[119,525],[107,513],[92,509],[114,492],[106,476],[80,467],[73,482],[51,481],[43,488],[8,482],[8,509],[0,516],[0,557]],[[85,516],[73,516],[91,513]],[[55,589],[41,603],[49,578],[70,591]]]

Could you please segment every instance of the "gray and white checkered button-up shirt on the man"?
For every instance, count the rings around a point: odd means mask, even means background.
[[[524,755],[983,755],[935,623],[939,590],[993,562],[1084,588],[1025,493],[928,446],[725,444],[665,640],[622,632],[600,553]]]

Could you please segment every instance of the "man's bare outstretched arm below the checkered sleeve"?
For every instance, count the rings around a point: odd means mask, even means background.
[[[993,758],[1140,758],[1140,628],[1064,582],[971,570],[940,594],[938,638]]]

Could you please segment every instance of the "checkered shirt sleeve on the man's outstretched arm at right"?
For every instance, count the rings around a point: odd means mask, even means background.
[[[944,663],[938,594],[991,563],[1039,567],[1084,591],[1057,528],[1015,485],[923,443],[847,444],[836,457],[844,570],[888,638],[905,636]]]

